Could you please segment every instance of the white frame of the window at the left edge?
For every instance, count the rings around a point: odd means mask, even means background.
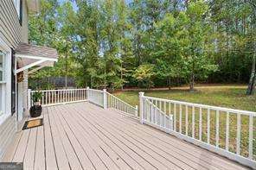
[[[0,125],[9,117],[11,116],[11,110],[10,110],[10,83],[11,83],[11,76],[8,75],[11,72],[11,49],[7,46],[7,44],[1,39],[0,37],[0,50],[3,51],[5,54],[3,57],[3,81],[0,82],[1,87],[3,88],[2,96],[0,96],[2,102],[2,107],[0,110]]]

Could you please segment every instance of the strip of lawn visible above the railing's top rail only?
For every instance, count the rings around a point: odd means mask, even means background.
[[[246,96],[246,85],[208,85],[197,86],[190,92],[188,87],[176,87],[171,90],[144,91],[145,96],[167,98],[195,104],[208,104],[238,110],[256,111],[256,95]],[[138,91],[117,91],[114,93],[131,105],[138,105]]]

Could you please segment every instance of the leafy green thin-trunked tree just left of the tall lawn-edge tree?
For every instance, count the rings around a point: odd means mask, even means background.
[[[155,26],[156,48],[152,51],[152,55],[157,59],[157,75],[168,79],[169,88],[171,79],[183,76],[183,56],[185,48],[188,46],[187,22],[188,18],[184,13],[180,13],[176,18],[167,14]]]

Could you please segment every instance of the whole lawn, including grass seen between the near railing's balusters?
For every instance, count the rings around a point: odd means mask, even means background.
[[[256,95],[246,96],[246,85],[199,85],[195,87],[196,91],[190,92],[188,87],[176,87],[171,90],[150,90],[144,91],[145,96],[155,98],[166,98],[172,100],[185,101],[195,104],[208,104],[233,108],[238,110],[256,111]],[[121,98],[131,105],[138,105],[138,91],[117,91],[115,96]],[[174,108],[171,105],[170,108]],[[178,107],[177,107],[178,108]],[[170,110],[173,114],[174,110]],[[176,109],[176,113],[179,110]],[[169,112],[167,112],[169,114]],[[202,110],[202,141],[207,142],[207,110]],[[235,153],[236,150],[236,114],[230,113],[229,116],[229,150]],[[179,114],[176,115],[176,129],[179,129]],[[182,134],[185,133],[185,108],[182,106]],[[192,111],[189,108],[189,136],[192,135]],[[210,143],[215,144],[216,111],[210,113]],[[240,136],[240,154],[248,154],[248,116],[241,116],[241,136]],[[220,147],[225,148],[226,139],[226,113],[220,112]],[[195,138],[199,138],[199,109],[195,108]],[[256,159],[256,117],[253,118],[253,159]]]

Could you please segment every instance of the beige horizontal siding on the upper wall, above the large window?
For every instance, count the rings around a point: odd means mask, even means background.
[[[13,48],[21,41],[21,25],[12,0],[0,0],[0,36]]]

